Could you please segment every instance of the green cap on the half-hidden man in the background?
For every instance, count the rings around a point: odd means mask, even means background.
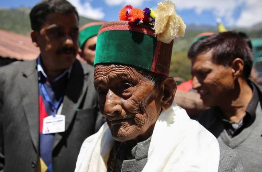
[[[89,38],[96,36],[100,27],[104,24],[104,22],[92,22],[82,26],[79,29],[79,36],[78,36],[78,45],[80,48],[84,45],[86,40]]]

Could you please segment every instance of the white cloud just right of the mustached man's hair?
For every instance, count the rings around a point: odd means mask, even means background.
[[[96,19],[96,20],[101,20],[105,16],[102,7],[93,8],[91,3],[88,1],[81,3],[80,0],[68,0],[68,2],[70,2],[73,6],[76,7],[77,12],[81,16]]]

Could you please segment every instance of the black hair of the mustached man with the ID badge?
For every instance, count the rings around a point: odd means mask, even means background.
[[[50,13],[70,14],[75,13],[79,20],[76,8],[66,0],[43,0],[37,3],[31,10],[30,22],[34,31],[40,31],[45,18]]]

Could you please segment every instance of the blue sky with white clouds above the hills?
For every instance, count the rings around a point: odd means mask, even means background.
[[[80,15],[97,20],[118,20],[125,5],[155,9],[159,0],[68,0]],[[252,26],[262,22],[262,0],[172,0],[186,24],[216,25],[221,18],[225,26]],[[0,7],[32,7],[39,0],[0,0]]]

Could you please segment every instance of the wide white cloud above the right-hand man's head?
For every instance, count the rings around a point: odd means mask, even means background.
[[[180,10],[193,9],[197,14],[204,10],[212,11],[216,17],[224,18],[226,24],[242,27],[262,22],[261,0],[172,0]],[[234,10],[244,5],[240,16],[233,17]]]

